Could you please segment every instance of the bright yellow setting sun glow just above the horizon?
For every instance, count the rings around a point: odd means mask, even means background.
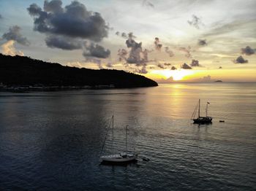
[[[178,69],[178,70],[156,70],[152,71],[153,74],[157,74],[159,76],[164,77],[165,79],[168,79],[170,77],[173,77],[174,81],[178,81],[181,79],[184,79],[184,77],[187,77],[191,74],[194,74],[195,71],[185,70],[185,69]]]

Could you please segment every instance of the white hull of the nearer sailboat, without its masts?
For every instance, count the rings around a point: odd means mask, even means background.
[[[112,163],[126,163],[137,159],[137,154],[117,154],[117,155],[105,155],[100,157],[102,161]]]

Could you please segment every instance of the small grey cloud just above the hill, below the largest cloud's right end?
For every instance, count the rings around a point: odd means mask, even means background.
[[[83,56],[85,57],[92,56],[96,58],[108,58],[109,55],[110,55],[110,50],[105,50],[104,47],[94,43],[86,45],[83,51]]]

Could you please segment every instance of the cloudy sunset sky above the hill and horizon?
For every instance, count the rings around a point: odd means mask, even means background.
[[[256,82],[255,0],[0,0],[0,51],[160,83]]]

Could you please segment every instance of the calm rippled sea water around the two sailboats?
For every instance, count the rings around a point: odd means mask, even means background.
[[[189,120],[198,98],[211,125]],[[99,165],[112,114],[114,148],[128,124],[149,162]],[[0,93],[0,190],[255,189],[256,84]]]

